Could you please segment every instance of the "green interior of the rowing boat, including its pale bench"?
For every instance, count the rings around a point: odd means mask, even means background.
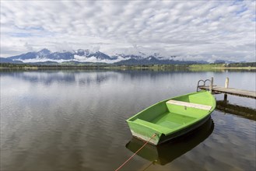
[[[211,97],[195,93],[156,103],[143,110],[133,121],[169,132],[206,116],[212,109],[212,99],[207,98]]]

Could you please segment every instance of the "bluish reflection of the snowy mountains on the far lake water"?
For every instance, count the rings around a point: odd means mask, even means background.
[[[175,72],[177,73],[177,72]],[[179,71],[178,73],[183,73]],[[16,79],[22,79],[26,82],[40,82],[44,85],[50,86],[54,82],[75,84],[80,86],[89,86],[90,84],[100,85],[109,79],[117,80],[118,77],[122,79],[144,79],[145,76],[150,79],[156,79],[163,75],[172,75],[173,72],[154,72],[154,71],[90,71],[90,70],[44,70],[44,71],[19,71],[19,72],[0,72],[1,76],[9,76]],[[119,75],[119,76],[118,76]]]

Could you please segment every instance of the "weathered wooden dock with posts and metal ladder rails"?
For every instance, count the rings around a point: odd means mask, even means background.
[[[205,82],[210,82],[209,86],[205,86]],[[199,83],[203,82],[204,85],[199,86]],[[199,80],[198,81],[198,89],[206,89],[209,90],[212,93],[224,93],[224,100],[226,100],[227,94],[234,95],[234,96],[243,96],[243,97],[248,97],[252,99],[256,99],[256,92],[255,91],[250,91],[250,90],[245,90],[245,89],[235,89],[235,88],[229,88],[229,78],[226,78],[225,86],[213,86],[213,78],[211,80],[206,79],[204,80]]]

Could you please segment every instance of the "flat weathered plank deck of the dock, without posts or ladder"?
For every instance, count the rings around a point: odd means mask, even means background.
[[[209,86],[199,86],[199,89],[207,89],[208,90]],[[244,96],[244,97],[256,99],[256,92],[250,91],[250,90],[245,90],[245,89],[234,89],[234,88],[225,88],[222,86],[213,86],[212,92],[226,93],[226,94],[231,94],[234,96]]]

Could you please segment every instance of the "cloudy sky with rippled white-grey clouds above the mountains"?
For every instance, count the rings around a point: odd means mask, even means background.
[[[2,1],[1,57],[46,47],[255,61],[255,1]]]

